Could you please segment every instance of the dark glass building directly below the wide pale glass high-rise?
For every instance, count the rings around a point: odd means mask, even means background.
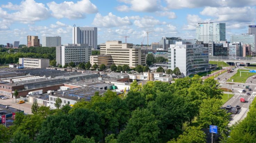
[[[227,41],[208,43],[209,56],[228,56],[228,43]]]

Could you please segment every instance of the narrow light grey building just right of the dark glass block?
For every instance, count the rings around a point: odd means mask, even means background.
[[[237,57],[242,57],[241,51],[242,51],[241,42],[229,43],[229,48],[228,48],[229,59],[236,59]]]

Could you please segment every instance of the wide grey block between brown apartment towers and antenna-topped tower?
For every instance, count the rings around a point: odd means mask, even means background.
[[[42,37],[42,47],[56,47],[61,46],[61,37]]]

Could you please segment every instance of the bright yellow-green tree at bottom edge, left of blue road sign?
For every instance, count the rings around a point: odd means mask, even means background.
[[[206,134],[198,127],[188,127],[182,135],[179,135],[175,140],[171,140],[167,143],[205,143]]]

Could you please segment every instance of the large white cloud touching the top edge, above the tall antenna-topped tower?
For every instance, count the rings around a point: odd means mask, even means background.
[[[54,1],[47,3],[56,18],[67,17],[69,19],[85,18],[86,14],[97,13],[97,7],[89,0],[81,0],[74,3],[73,1],[64,1],[56,3]]]

